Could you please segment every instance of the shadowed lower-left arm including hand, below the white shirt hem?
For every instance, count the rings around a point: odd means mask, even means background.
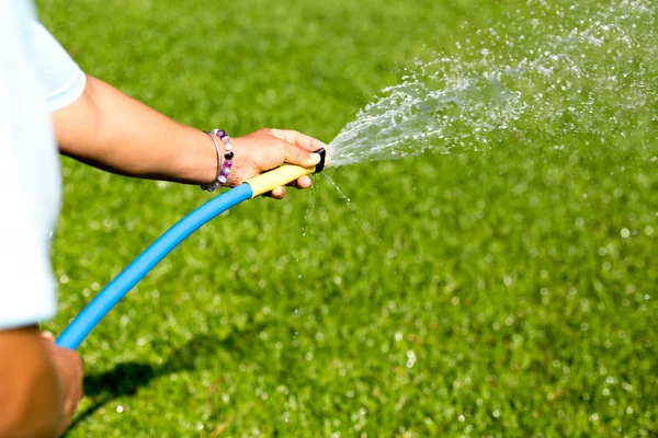
[[[82,360],[36,326],[0,331],[0,437],[58,437],[82,397]]]

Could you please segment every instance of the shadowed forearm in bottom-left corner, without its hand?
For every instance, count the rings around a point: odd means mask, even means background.
[[[54,437],[64,395],[35,327],[0,331],[0,436]]]

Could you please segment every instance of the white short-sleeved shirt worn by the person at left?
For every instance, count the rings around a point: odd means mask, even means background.
[[[48,111],[76,101],[84,84],[31,1],[0,0],[0,330],[57,311],[49,241],[61,181]]]

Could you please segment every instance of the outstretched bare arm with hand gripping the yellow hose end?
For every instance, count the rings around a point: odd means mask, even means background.
[[[217,152],[205,132],[173,122],[90,76],[82,95],[52,113],[52,119],[60,152],[100,169],[189,184],[207,184],[217,174]],[[311,152],[325,147],[282,129],[261,129],[231,142],[231,186],[283,162],[313,166],[319,157]],[[308,187],[310,180],[303,176],[297,185]],[[273,196],[282,197],[281,188]]]

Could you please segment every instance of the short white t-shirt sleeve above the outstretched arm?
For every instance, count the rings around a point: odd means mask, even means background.
[[[36,20],[30,23],[33,66],[49,112],[73,103],[82,95],[87,78],[64,47]]]

